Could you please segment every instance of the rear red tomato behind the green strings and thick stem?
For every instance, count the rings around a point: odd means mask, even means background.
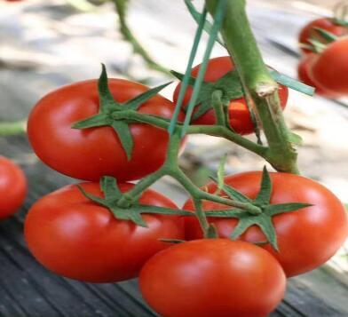
[[[200,70],[201,65],[197,65],[192,69],[191,75],[196,76]],[[222,56],[215,59],[210,59],[207,67],[207,71],[204,75],[206,82],[214,83],[219,78],[223,77],[228,72],[234,69],[233,62],[229,56]],[[181,83],[178,83],[177,88],[174,91],[174,102],[178,100],[178,92],[180,91]],[[191,98],[193,88],[187,87],[183,105],[186,106]],[[281,107],[284,109],[288,101],[288,88],[285,86],[279,86],[279,97],[281,99]],[[254,126],[250,118],[249,108],[244,98],[231,100],[229,106],[230,125],[234,131],[241,135],[250,134],[254,131]],[[204,115],[194,120],[194,124],[206,124],[213,125],[216,123],[214,110],[210,109]]]

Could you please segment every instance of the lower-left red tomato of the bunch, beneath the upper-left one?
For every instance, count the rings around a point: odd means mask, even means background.
[[[83,189],[102,196],[98,183]],[[128,191],[130,183],[119,184]],[[146,190],[140,203],[177,208],[167,197]],[[24,234],[29,250],[45,267],[79,281],[112,282],[136,277],[146,260],[170,247],[159,239],[182,239],[178,216],[143,214],[148,227],[116,219],[110,210],[91,202],[76,186],[44,196],[29,210]]]

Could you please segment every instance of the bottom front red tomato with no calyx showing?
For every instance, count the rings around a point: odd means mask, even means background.
[[[265,250],[227,239],[180,243],[140,272],[146,302],[166,317],[261,317],[281,302],[285,275]]]

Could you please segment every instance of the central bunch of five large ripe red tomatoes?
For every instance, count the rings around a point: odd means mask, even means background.
[[[234,83],[238,98],[225,91],[233,68],[228,57],[210,59],[203,90],[212,85],[225,92],[231,131],[249,134],[255,127],[246,100],[238,95],[241,88]],[[265,316],[284,296],[286,277],[322,265],[344,242],[348,224],[342,203],[297,175],[251,171],[227,176],[219,191],[215,182],[204,186],[210,194],[262,211],[235,214],[224,204],[203,201],[202,210],[217,229],[215,239],[203,237],[190,200],[179,209],[150,189],[127,196],[136,187],[131,180],[161,169],[170,139],[167,131],[127,115],[136,111],[166,123],[175,104],[140,83],[110,79],[103,85],[105,79],[102,73],[99,81],[53,91],[29,116],[28,138],[36,155],[86,181],[47,194],[25,220],[29,250],[52,272],[90,282],[139,276],[143,297],[163,316]],[[175,101],[179,89],[180,83]],[[191,93],[188,88],[179,121]],[[280,85],[279,97],[284,108],[287,87]],[[211,107],[203,112],[201,107],[207,107],[203,97],[192,124],[216,124]],[[220,218],[225,211],[230,213]],[[238,230],[238,239],[230,239]]]

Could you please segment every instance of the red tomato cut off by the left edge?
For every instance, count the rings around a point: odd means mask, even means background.
[[[24,202],[27,178],[20,167],[0,156],[0,219],[11,216]]]

